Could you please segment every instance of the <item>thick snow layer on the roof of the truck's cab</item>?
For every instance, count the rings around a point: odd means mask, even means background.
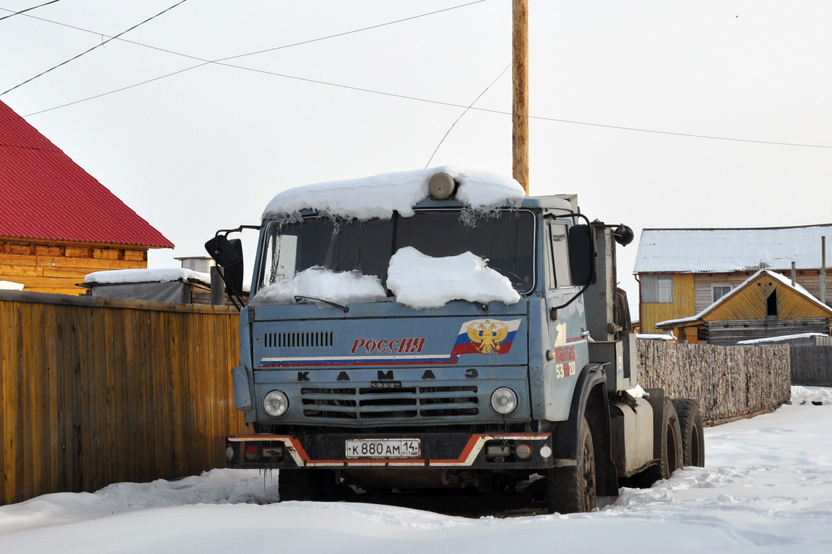
[[[474,209],[516,203],[525,196],[520,184],[510,177],[443,165],[285,190],[266,206],[263,218],[291,216],[304,208],[348,219],[389,219],[394,212],[409,218],[414,205],[428,198],[428,180],[440,171],[459,184],[457,199]]]

